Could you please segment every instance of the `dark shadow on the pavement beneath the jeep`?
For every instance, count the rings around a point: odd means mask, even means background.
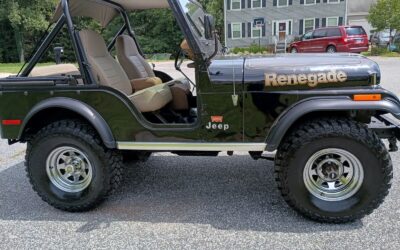
[[[222,230],[285,233],[354,230],[307,220],[290,209],[276,188],[273,163],[248,156],[153,156],[127,166],[120,190],[86,213],[56,210],[32,191],[23,163],[0,172],[0,219],[78,221],[78,232],[107,228],[113,222],[191,223]]]

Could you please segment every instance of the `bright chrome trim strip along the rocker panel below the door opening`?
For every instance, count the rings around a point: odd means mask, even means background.
[[[121,150],[149,151],[265,151],[266,143],[117,142]]]

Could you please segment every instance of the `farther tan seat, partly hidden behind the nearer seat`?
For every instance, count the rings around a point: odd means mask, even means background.
[[[118,61],[129,79],[131,79],[134,89],[145,89],[161,83],[161,79],[154,75],[149,63],[140,55],[132,37],[127,35],[119,36],[115,47]],[[186,82],[173,80],[167,83],[172,91],[171,107],[174,110],[189,109],[188,95],[190,94],[190,86]]]

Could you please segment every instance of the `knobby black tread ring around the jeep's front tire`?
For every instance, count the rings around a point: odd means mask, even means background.
[[[295,152],[307,143],[328,136],[357,140],[361,144],[366,145],[381,162],[381,171],[384,179],[380,186],[379,196],[377,196],[368,207],[353,215],[330,217],[316,214],[307,210],[301,204],[298,204],[296,200],[291,197],[292,194],[287,188],[287,167],[285,166],[288,166],[288,163],[293,160]],[[384,198],[388,195],[392,178],[393,166],[385,145],[365,124],[348,118],[319,118],[301,124],[296,129],[292,130],[289,136],[284,138],[278,148],[275,158],[275,180],[283,199],[290,207],[300,214],[319,222],[347,223],[371,214],[383,203]]]

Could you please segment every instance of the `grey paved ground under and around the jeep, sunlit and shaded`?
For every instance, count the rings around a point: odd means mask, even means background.
[[[374,60],[383,86],[400,95],[400,59]],[[395,178],[386,202],[361,221],[329,225],[288,208],[274,183],[272,162],[226,154],[156,154],[129,166],[119,192],[98,209],[65,213],[32,191],[24,149],[0,142],[2,249],[400,249],[400,153],[391,154]]]

